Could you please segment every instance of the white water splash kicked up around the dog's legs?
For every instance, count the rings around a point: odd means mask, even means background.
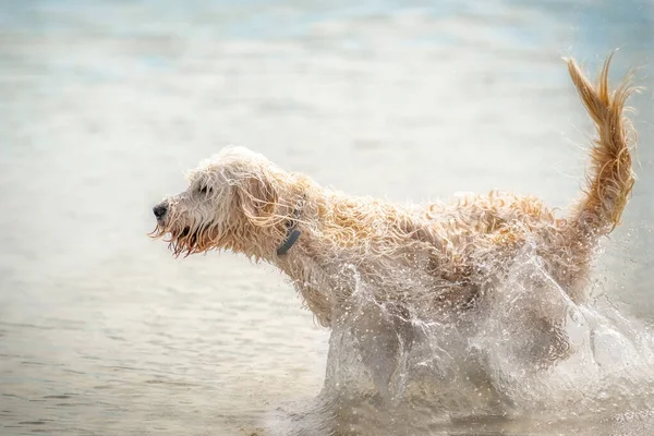
[[[373,284],[346,266],[356,291],[332,329],[323,391],[279,409],[272,434],[654,432],[646,326],[605,294],[574,304],[534,245],[508,271],[475,308],[434,320],[377,303]],[[542,323],[543,313],[565,322]]]

